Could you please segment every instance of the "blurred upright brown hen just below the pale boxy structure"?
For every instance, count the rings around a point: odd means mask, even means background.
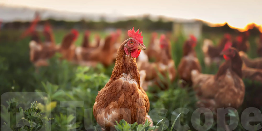
[[[187,40],[183,45],[183,57],[178,65],[178,74],[179,77],[184,80],[186,83],[191,85],[191,71],[198,70],[201,72],[201,66],[196,57],[194,47],[196,46],[196,38],[191,35],[190,39]]]

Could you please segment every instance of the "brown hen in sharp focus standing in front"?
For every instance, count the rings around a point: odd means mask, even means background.
[[[117,51],[116,63],[108,83],[97,96],[93,114],[105,130],[115,130],[115,121],[124,119],[132,124],[142,124],[148,117],[149,99],[140,87],[140,75],[135,58],[145,50],[143,36],[132,30]],[[151,121],[151,120],[150,120]]]

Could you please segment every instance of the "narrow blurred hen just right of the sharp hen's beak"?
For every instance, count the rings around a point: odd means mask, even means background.
[[[151,38],[148,44],[148,49],[146,50],[146,54],[148,55],[148,58],[154,59],[154,60],[159,60],[159,40],[156,40],[157,38],[157,33],[153,32],[151,34]]]

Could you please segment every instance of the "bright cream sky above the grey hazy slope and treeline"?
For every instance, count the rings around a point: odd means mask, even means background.
[[[0,4],[122,16],[163,15],[227,22],[237,28],[244,28],[248,23],[262,26],[262,0],[1,0]]]

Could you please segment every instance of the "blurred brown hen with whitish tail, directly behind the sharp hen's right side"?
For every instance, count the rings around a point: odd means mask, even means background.
[[[162,34],[160,38],[161,52],[159,56],[159,62],[150,63],[148,56],[144,53],[144,51],[141,51],[137,59],[137,65],[138,69],[144,70],[146,74],[146,85],[152,85],[153,83],[156,83],[160,86],[160,88],[166,89],[168,83],[172,83],[175,80],[176,67],[171,57],[170,46],[170,41],[165,37],[165,35]],[[163,79],[161,79],[159,75],[162,75]]]

